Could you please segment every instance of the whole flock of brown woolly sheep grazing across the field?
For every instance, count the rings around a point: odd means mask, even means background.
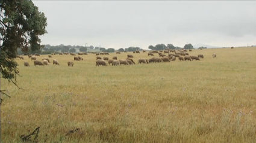
[[[192,51],[192,50],[189,50]],[[143,50],[143,53],[145,53],[146,51]],[[96,52],[90,52],[92,54],[96,54],[96,66],[107,66],[112,64],[113,66],[117,66],[117,65],[134,65],[135,62],[133,60],[133,55],[132,54],[128,54],[126,59],[119,59],[117,60],[117,56],[114,56],[112,59],[109,59],[108,57],[101,57],[100,55],[103,54],[108,54],[107,52],[100,52],[100,53],[96,53]],[[139,50],[133,51],[133,53],[140,53]],[[52,55],[54,55],[55,53],[51,53]],[[75,53],[59,53],[60,55],[63,54],[70,54],[72,56],[74,56],[74,60],[83,60],[83,57],[80,56],[76,56]],[[87,54],[85,52],[81,52],[81,53],[77,53],[78,55],[84,55]],[[116,54],[120,54],[120,52],[116,52]],[[145,58],[140,58],[139,59],[139,64],[140,63],[159,63],[159,62],[170,62],[170,61],[175,61],[176,58],[178,58],[178,60],[200,60],[200,58],[204,58],[204,55],[202,54],[198,54],[198,56],[190,56],[189,53],[187,52],[187,50],[170,50],[170,49],[166,49],[166,50],[160,50],[160,51],[149,51],[148,56],[155,56],[155,54],[158,54],[159,57],[152,57],[149,59],[145,59]],[[52,57],[52,55],[48,55],[49,58]],[[43,58],[42,62],[40,60],[37,60],[37,56],[40,56],[40,54],[30,54],[28,55],[28,58],[30,58],[31,60],[34,60],[34,65],[49,65],[50,60],[49,58]],[[213,54],[213,57],[216,57],[216,54]],[[23,56],[17,56],[17,58],[20,59],[24,59]],[[107,62],[106,62],[107,61]],[[60,65],[58,63],[58,60],[54,59],[53,60],[53,65]],[[24,66],[30,66],[30,64],[28,62],[24,62]],[[67,62],[67,66],[73,66],[73,62],[71,60],[69,60]]]

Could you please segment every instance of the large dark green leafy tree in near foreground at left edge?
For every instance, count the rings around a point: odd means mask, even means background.
[[[0,0],[0,8],[3,12],[0,20],[0,71],[3,78],[14,83],[12,79],[19,72],[13,60],[17,48],[22,51],[43,48],[39,35],[47,33],[47,19],[31,0]]]

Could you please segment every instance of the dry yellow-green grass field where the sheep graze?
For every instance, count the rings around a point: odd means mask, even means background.
[[[256,142],[256,48],[139,65],[147,53],[132,53],[136,65],[128,66],[95,66],[95,54],[73,67],[70,55],[54,55],[49,66],[17,59],[21,89],[1,79],[11,96],[2,95],[2,142],[21,142],[39,126],[39,142]]]

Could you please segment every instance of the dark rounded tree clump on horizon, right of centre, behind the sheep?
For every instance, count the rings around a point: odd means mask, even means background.
[[[148,47],[149,49],[151,50],[164,50],[164,49],[172,49],[172,50],[178,50],[178,49],[181,49],[181,47],[175,47],[173,44],[167,44],[167,45],[164,45],[164,44],[157,44],[157,45],[149,45]],[[192,44],[186,44],[184,45],[183,47],[184,49],[193,49],[193,45]]]

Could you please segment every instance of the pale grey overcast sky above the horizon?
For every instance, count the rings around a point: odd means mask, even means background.
[[[33,1],[42,44],[105,48],[256,45],[256,1]]]

